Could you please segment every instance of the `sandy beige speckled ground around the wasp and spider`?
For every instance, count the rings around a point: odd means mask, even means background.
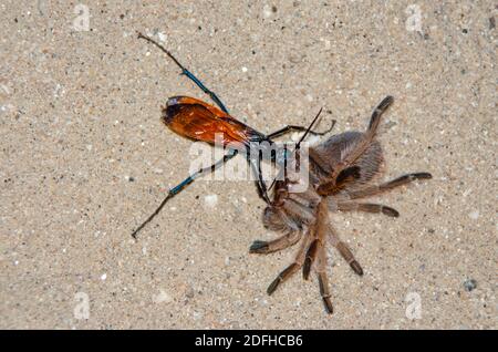
[[[0,6],[0,328],[497,328],[494,1],[138,3]],[[297,248],[248,253],[277,236],[249,182],[198,180],[131,238],[188,173],[160,105],[208,101],[136,30],[264,133],[321,106],[363,128],[394,95],[385,178],[434,179],[382,197],[397,219],[333,217],[365,270],[330,250],[333,315],[314,277],[267,296]]]

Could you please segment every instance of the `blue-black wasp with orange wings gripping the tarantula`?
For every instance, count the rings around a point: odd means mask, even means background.
[[[251,154],[250,152],[253,148],[259,148],[261,146],[273,147],[274,149],[277,149],[273,138],[280,137],[290,132],[305,131],[307,134],[311,133],[313,135],[325,135],[326,133],[332,131],[334,126],[335,121],[332,122],[331,127],[325,132],[314,132],[311,131],[311,127],[307,128],[297,125],[287,125],[267,135],[258,132],[231,116],[217,94],[207,89],[206,85],[204,85],[204,83],[199,79],[197,79],[190,71],[188,71],[166,48],[164,48],[149,37],[146,37],[139,32],[137,34],[139,39],[144,39],[162,50],[181,70],[183,75],[193,81],[204,93],[209,95],[209,97],[216,103],[216,105],[218,105],[218,107],[216,107],[198,99],[189,96],[169,97],[166,103],[166,107],[162,108],[162,121],[164,122],[164,124],[169,127],[169,130],[184,137],[207,142],[209,144],[215,143],[215,135],[221,134],[221,142],[224,146],[229,146],[230,148],[221,159],[217,161],[211,166],[197,170],[196,173],[189,175],[187,178],[180,182],[178,185],[170,188],[167,196],[159,204],[156,210],[141,226],[138,226],[136,230],[133,231],[132,236],[134,238],[136,238],[138,231],[141,231],[148,222],[151,222],[157,214],[159,214],[159,211],[170,198],[180,193],[197,177],[199,177],[204,173],[214,172],[215,169],[227,163],[229,159],[235,157],[239,152],[246,153],[247,161],[250,164],[252,172],[257,175],[256,186],[258,195],[267,204],[270,204],[267,186],[261,173],[261,156],[264,155],[264,151],[259,151],[259,153],[257,153],[256,159],[251,158],[251,155],[253,154]],[[313,120],[313,123],[318,120],[320,112]],[[272,152],[274,152],[274,149]],[[270,162],[284,164],[288,157],[287,152],[287,148],[284,148],[280,157],[278,153],[269,153]]]

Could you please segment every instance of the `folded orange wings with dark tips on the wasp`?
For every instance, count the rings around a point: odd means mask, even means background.
[[[262,141],[264,135],[231,117],[216,106],[188,96],[168,99],[163,108],[163,122],[173,132],[210,144],[215,137],[224,145],[242,147],[251,141]],[[218,142],[218,141],[217,141]]]

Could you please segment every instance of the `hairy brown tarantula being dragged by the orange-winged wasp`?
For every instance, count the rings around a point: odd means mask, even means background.
[[[432,178],[428,173],[413,173],[374,184],[384,163],[375,134],[382,114],[392,103],[393,97],[386,96],[378,104],[364,133],[345,132],[309,148],[309,184],[304,191],[292,191],[293,186],[300,182],[297,175],[288,175],[274,183],[272,201],[264,209],[262,221],[267,229],[283,232],[283,236],[271,241],[257,240],[250,247],[250,252],[270,253],[291,247],[300,240],[301,246],[294,262],[281,271],[268,287],[268,294],[272,294],[279,284],[301,268],[303,278],[308,280],[314,263],[320,294],[326,311],[332,313],[325,270],[326,237],[355,273],[362,276],[363,269],[331,226],[329,213],[357,210],[398,217],[400,214],[391,207],[362,203],[359,199],[382,194],[415,179]]]

